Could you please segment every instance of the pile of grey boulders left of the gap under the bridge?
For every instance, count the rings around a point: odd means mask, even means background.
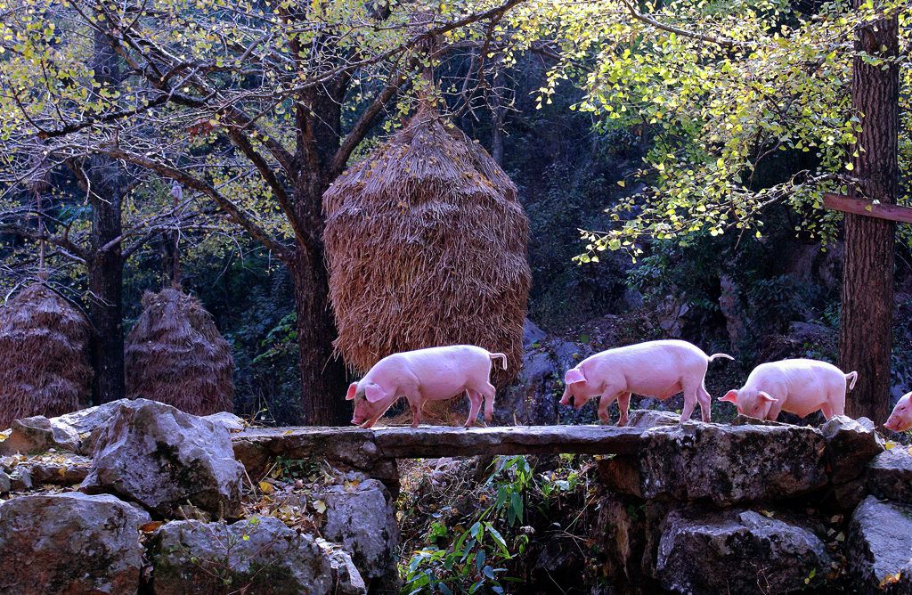
[[[354,595],[362,572],[389,584],[383,486],[326,486],[324,537],[340,545],[258,515],[233,454],[243,428],[141,399],[16,421],[0,442],[0,592]]]

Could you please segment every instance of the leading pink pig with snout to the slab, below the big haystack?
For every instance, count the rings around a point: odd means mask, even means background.
[[[409,400],[411,427],[421,421],[425,401],[451,399],[462,391],[472,403],[465,427],[472,426],[484,397],[484,421],[490,422],[494,409],[491,361],[503,360],[503,353],[492,353],[474,345],[451,345],[426,350],[394,353],[379,360],[358,382],[348,386],[347,401],[355,401],[351,423],[369,428],[387,412],[399,397]]]

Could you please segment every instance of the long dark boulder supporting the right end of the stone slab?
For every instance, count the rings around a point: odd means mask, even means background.
[[[608,487],[719,506],[799,496],[827,483],[824,438],[787,424],[688,422],[643,433],[635,455],[600,462]]]

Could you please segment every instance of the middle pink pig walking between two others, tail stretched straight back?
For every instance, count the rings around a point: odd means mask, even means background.
[[[710,361],[716,358],[734,359],[725,353],[706,355],[696,345],[681,340],[648,341],[602,351],[566,371],[561,404],[569,405],[572,396],[579,409],[600,395],[598,419],[608,423],[608,406],[617,399],[617,425],[626,425],[631,393],[668,399],[684,391],[681,422],[690,419],[698,402],[703,421],[709,422],[710,393],[703,380]]]

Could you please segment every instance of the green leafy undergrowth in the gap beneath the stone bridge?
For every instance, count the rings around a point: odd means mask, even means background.
[[[513,583],[560,582],[554,573],[562,569],[573,568],[577,579],[596,573],[592,457],[408,465],[398,503],[403,595],[513,592]]]

